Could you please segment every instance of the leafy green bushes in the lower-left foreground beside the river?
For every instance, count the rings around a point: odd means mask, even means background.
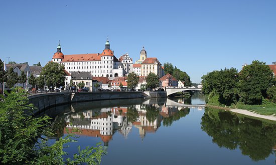
[[[49,116],[34,117],[35,107],[28,103],[26,92],[17,88],[0,101],[0,162],[3,164],[99,164],[105,154],[103,146],[87,146],[65,159],[63,149],[77,136],[68,133],[53,144],[55,134]],[[75,131],[81,131],[76,129]],[[77,149],[76,149],[77,150]]]

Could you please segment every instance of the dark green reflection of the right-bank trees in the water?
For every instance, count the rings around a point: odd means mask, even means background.
[[[201,129],[219,147],[236,149],[252,160],[265,159],[276,144],[276,125],[214,108],[205,108]]]

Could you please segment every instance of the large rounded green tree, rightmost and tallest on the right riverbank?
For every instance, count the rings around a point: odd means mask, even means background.
[[[252,61],[239,72],[238,92],[245,104],[261,104],[273,82],[273,73],[265,62]]]

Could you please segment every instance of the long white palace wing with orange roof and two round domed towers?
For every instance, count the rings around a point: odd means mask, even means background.
[[[71,71],[91,71],[91,75],[95,77],[124,76],[123,64],[115,57],[114,51],[110,49],[108,39],[102,53],[64,55],[59,43],[52,61],[63,64],[69,73]]]

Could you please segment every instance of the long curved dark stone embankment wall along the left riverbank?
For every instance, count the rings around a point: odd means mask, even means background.
[[[120,99],[120,98],[144,98],[142,91],[131,92],[57,92],[31,95],[28,97],[29,102],[33,103],[38,109],[38,113],[44,109],[78,101],[94,101],[104,99]]]

